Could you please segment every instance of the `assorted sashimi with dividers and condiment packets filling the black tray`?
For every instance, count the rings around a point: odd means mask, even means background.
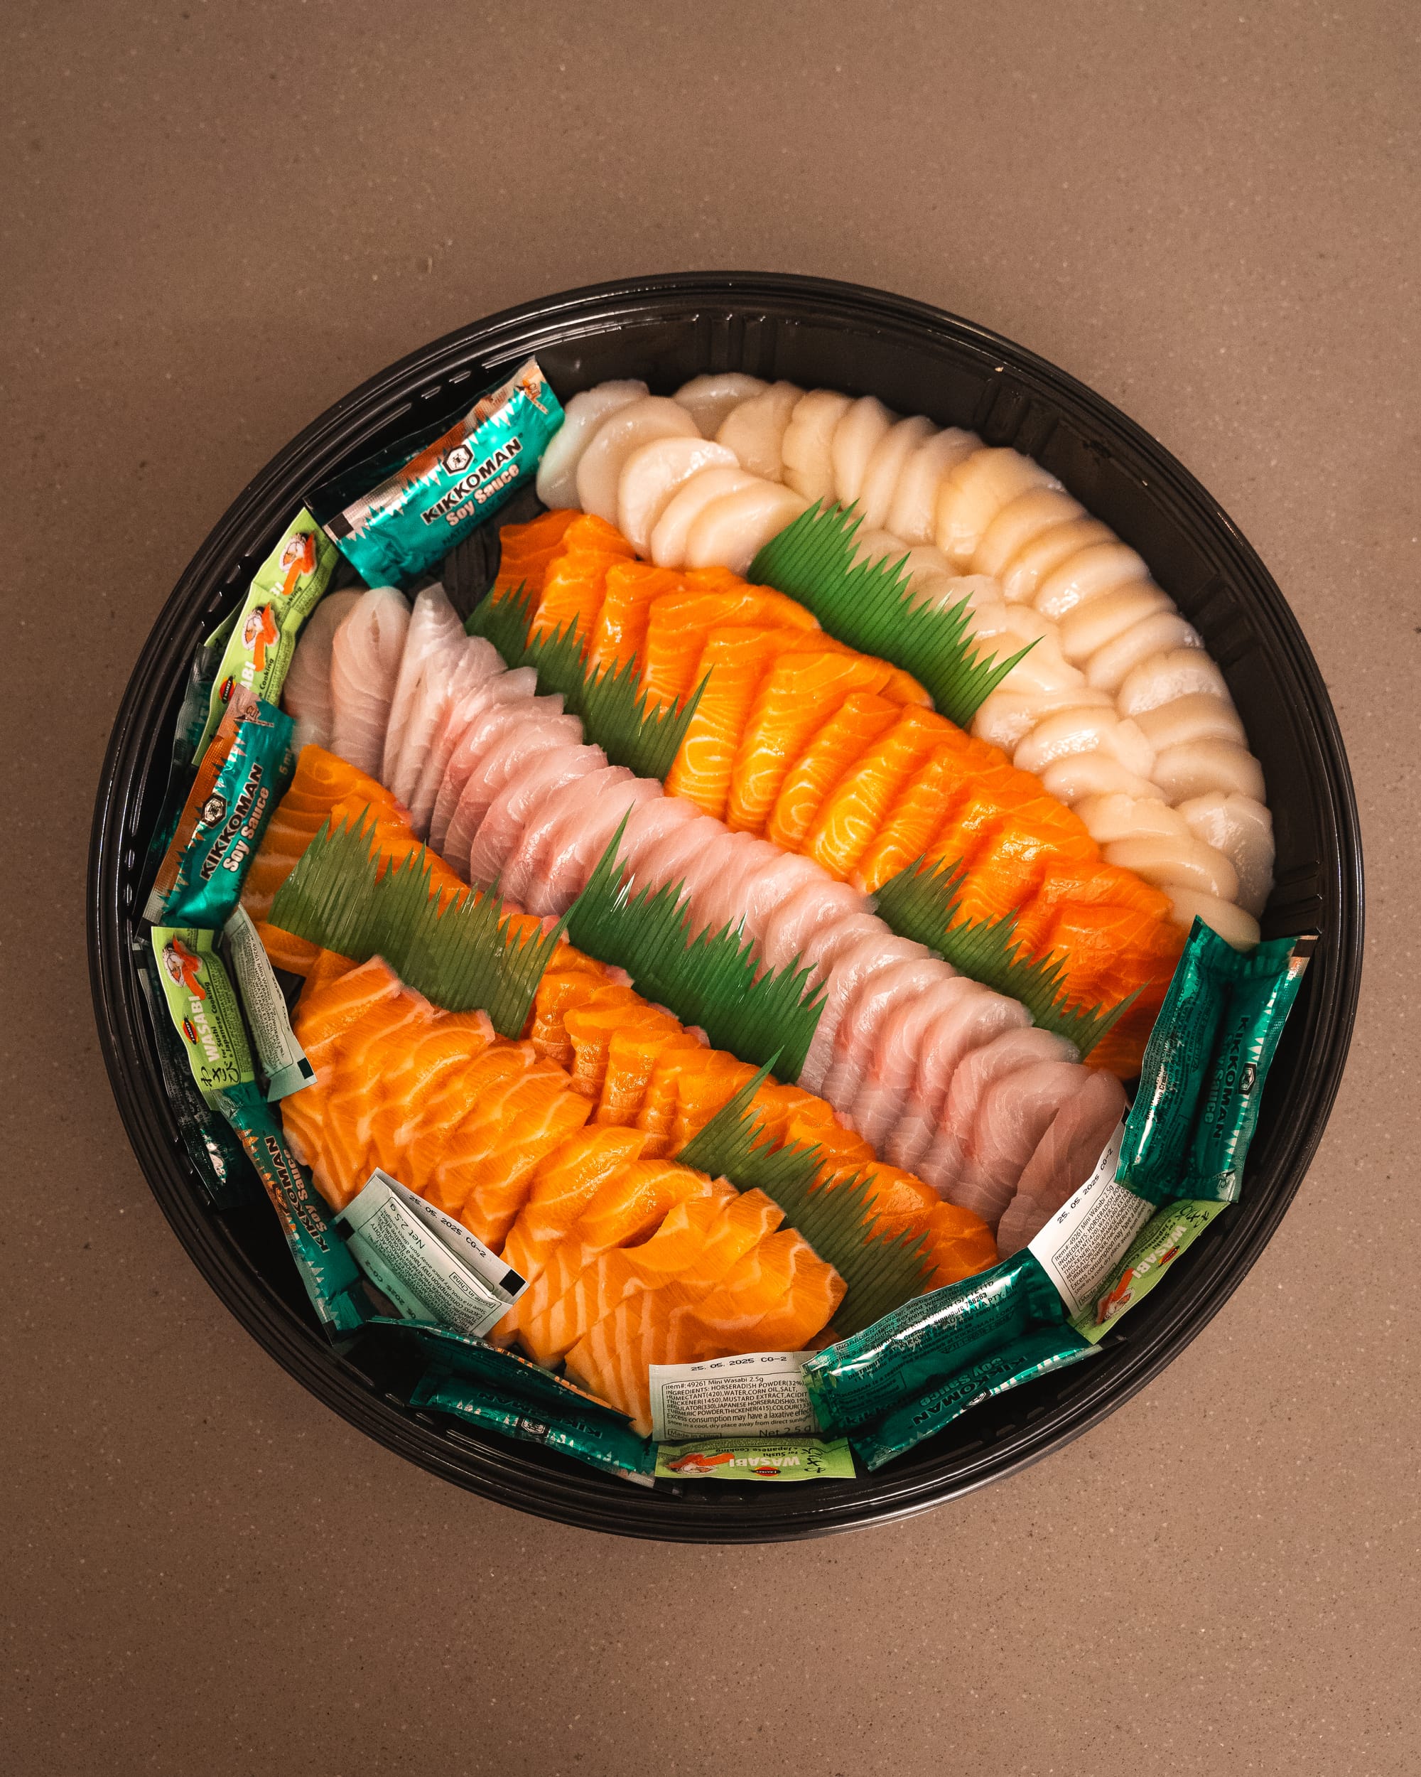
[[[1144,544],[753,363],[528,352],[309,478],[188,645],[128,954],[330,1367],[632,1512],[861,1521],[1242,1212],[1329,933]]]

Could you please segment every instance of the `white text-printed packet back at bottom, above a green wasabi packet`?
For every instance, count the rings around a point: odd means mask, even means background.
[[[648,1365],[652,1436],[657,1443],[687,1443],[817,1432],[805,1388],[810,1356],[806,1351],[753,1351],[707,1363]]]

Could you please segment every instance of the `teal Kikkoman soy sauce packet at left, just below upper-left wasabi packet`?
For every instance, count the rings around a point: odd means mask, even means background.
[[[243,688],[233,691],[158,865],[144,919],[226,924],[272,810],[295,773],[293,727],[275,705]]]

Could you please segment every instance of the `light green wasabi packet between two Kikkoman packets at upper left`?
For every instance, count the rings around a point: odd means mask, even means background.
[[[247,597],[231,622],[213,673],[202,732],[194,748],[197,757],[217,734],[234,691],[249,691],[266,704],[277,702],[286,668],[297,652],[300,627],[330,585],[337,562],[339,554],[320,524],[309,512],[298,512],[252,576]]]

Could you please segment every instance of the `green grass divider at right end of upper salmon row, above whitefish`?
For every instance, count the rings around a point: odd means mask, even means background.
[[[1140,988],[1115,1006],[1071,1006],[1064,958],[1028,956],[1016,940],[1016,913],[957,922],[966,867],[917,858],[876,890],[877,915],[901,938],[913,938],[954,968],[998,993],[1020,999],[1043,1031],[1069,1038],[1082,1059],[1135,1004]]]

